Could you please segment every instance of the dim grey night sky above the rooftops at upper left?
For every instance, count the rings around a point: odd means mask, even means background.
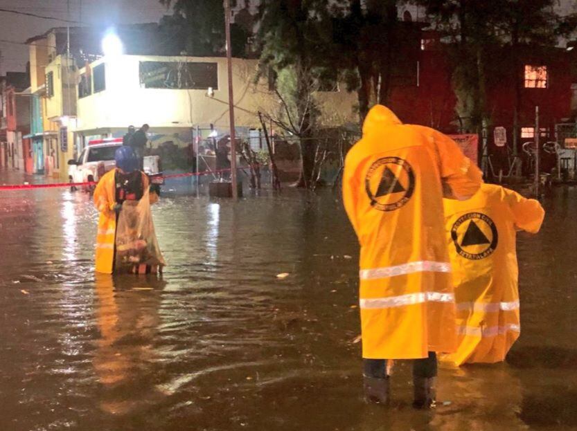
[[[70,3],[70,18],[67,12]],[[158,22],[166,8],[158,0],[0,0],[0,8],[36,15],[82,21],[86,24],[132,24]],[[80,19],[82,14],[82,19]],[[70,24],[75,26],[75,24]],[[0,39],[24,43],[65,22],[0,12]],[[0,73],[24,71],[28,46],[0,42]]]

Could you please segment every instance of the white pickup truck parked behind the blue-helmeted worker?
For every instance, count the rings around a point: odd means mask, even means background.
[[[77,160],[68,161],[68,178],[71,183],[96,182],[110,169],[114,169],[114,153],[122,146],[122,138],[107,138],[89,141]],[[159,156],[145,156],[144,172],[150,177],[150,182],[161,185],[164,183],[160,170]],[[76,190],[72,186],[71,190]],[[82,186],[82,190],[94,190],[92,186]]]

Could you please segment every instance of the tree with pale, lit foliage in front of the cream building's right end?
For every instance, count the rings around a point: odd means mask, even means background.
[[[314,92],[318,89],[319,52],[323,50],[319,17],[326,0],[263,0],[259,6],[261,74],[276,75],[281,110],[268,116],[297,136],[301,147],[301,174],[297,185],[311,186],[314,171],[314,130],[319,117]]]

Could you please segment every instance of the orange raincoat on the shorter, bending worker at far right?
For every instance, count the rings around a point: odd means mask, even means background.
[[[535,233],[544,210],[538,201],[483,184],[470,200],[445,199],[445,228],[453,269],[458,347],[456,365],[505,359],[519,338],[515,230]]]

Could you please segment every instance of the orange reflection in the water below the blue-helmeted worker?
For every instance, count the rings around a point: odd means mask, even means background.
[[[162,279],[96,274],[98,297],[94,369],[102,385],[100,408],[127,414],[162,398],[155,388],[154,339],[159,327]],[[126,394],[138,392],[138,397]]]

